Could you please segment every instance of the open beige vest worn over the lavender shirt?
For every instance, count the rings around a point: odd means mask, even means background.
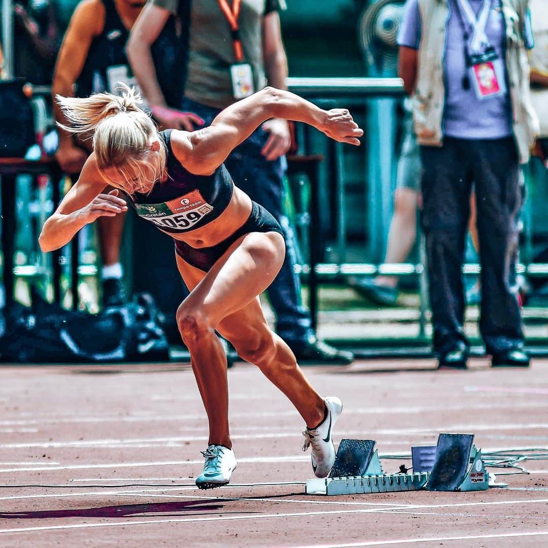
[[[539,131],[530,101],[529,62],[523,38],[523,21],[528,0],[501,0],[506,21],[506,70],[513,111],[513,133],[520,161],[529,159]],[[449,7],[447,0],[419,0],[421,40],[413,94],[415,132],[421,145],[441,146],[445,98],[443,55]]]

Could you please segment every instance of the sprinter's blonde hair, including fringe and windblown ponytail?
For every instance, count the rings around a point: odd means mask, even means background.
[[[121,95],[95,93],[83,99],[57,95],[68,122],[58,125],[84,138],[92,134],[93,151],[105,180],[134,193],[163,178],[166,151],[155,123],[139,108],[139,93],[124,83],[117,89],[122,89]],[[158,151],[151,150],[153,138],[161,143]],[[148,161],[152,155],[159,156],[159,167]],[[104,174],[105,168],[117,170],[123,182],[110,181]]]

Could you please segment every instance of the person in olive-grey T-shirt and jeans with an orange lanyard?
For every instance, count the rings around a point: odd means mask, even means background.
[[[180,109],[195,113],[209,125],[222,109],[267,84],[286,89],[288,67],[278,13],[284,7],[283,0],[193,0],[189,20],[182,21],[190,30],[185,96]],[[127,48],[153,115],[164,127],[175,129],[185,127],[184,121],[179,120],[178,110],[167,107],[150,45],[179,8],[179,0],[150,0],[133,28]],[[268,289],[277,317],[276,332],[299,362],[351,363],[351,352],[335,349],[317,338],[310,312],[301,302],[300,279],[295,273],[295,236],[283,208],[284,155],[290,143],[287,121],[270,119],[225,163],[239,186],[272,213],[286,237],[286,260]]]

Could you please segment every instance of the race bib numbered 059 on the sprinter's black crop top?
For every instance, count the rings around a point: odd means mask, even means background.
[[[199,190],[162,204],[135,204],[137,214],[168,232],[192,230],[197,222],[213,211]]]

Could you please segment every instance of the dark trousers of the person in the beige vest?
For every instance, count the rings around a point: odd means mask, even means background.
[[[421,147],[423,230],[432,309],[433,347],[452,350],[464,335],[464,243],[472,182],[476,193],[481,318],[488,353],[523,345],[517,295],[510,287],[515,268],[521,206],[520,166],[513,138],[444,139],[442,147]]]

